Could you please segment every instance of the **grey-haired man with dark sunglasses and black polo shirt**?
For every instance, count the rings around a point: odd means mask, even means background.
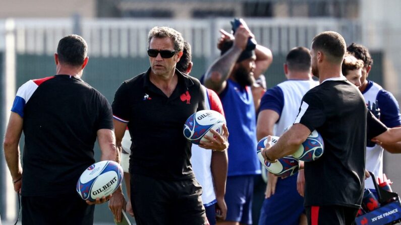
[[[182,35],[154,27],[148,35],[150,68],[123,82],[112,103],[117,146],[131,135],[131,204],[137,224],[205,224],[202,189],[191,168],[186,119],[205,109],[198,80],[176,69]],[[149,199],[149,197],[151,199]]]

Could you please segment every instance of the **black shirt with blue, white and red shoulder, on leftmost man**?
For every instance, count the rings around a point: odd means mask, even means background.
[[[22,195],[75,193],[95,162],[97,131],[113,129],[106,98],[79,78],[56,75],[22,85],[12,111],[24,119]]]

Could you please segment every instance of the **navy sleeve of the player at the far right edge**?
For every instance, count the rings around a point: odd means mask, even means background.
[[[386,90],[380,90],[377,94],[377,104],[380,109],[380,121],[387,127],[401,125],[401,114],[394,96]]]

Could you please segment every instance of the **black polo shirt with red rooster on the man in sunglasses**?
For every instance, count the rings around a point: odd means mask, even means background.
[[[181,180],[194,178],[185,121],[205,109],[199,81],[176,69],[178,84],[169,98],[149,80],[148,71],[123,82],[112,103],[114,119],[128,123],[130,173]]]

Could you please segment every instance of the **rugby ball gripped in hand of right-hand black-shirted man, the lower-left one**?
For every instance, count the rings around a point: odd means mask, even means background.
[[[271,136],[270,144],[273,146],[277,143],[279,137]],[[262,149],[267,144],[267,137],[263,137],[257,145],[257,154],[260,163],[272,174],[279,175],[282,177],[288,177],[296,174],[299,170],[299,161],[291,156],[286,156],[278,159],[275,163],[270,163],[264,160],[262,156]]]

